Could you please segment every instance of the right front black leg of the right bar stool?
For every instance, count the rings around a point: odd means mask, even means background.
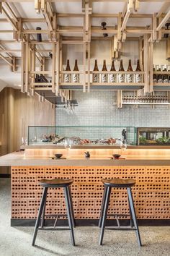
[[[127,188],[127,191],[128,191],[129,202],[130,202],[130,209],[131,209],[131,213],[133,216],[133,223],[134,223],[134,226],[136,229],[135,232],[136,232],[136,236],[138,239],[138,244],[139,244],[139,246],[142,246],[141,239],[140,239],[140,233],[139,233],[139,229],[138,229],[138,221],[136,219],[135,208],[134,208],[134,203],[133,203],[133,195],[132,195],[130,187]]]

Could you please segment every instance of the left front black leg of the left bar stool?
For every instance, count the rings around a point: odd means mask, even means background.
[[[45,204],[45,198],[47,196],[47,192],[48,192],[48,187],[45,187],[43,189],[42,198],[41,198],[41,202],[40,202],[40,208],[39,208],[39,211],[38,211],[38,214],[37,214],[37,221],[35,223],[35,230],[34,230],[34,234],[33,234],[33,238],[32,238],[32,245],[35,245],[37,230],[38,230],[38,227],[40,225],[40,219],[41,219],[42,210],[43,210],[43,207],[44,207],[44,204]]]

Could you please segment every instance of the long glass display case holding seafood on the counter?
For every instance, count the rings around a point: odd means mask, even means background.
[[[123,135],[136,145],[135,127],[28,127],[28,145],[63,145],[66,138],[73,145],[116,145]]]

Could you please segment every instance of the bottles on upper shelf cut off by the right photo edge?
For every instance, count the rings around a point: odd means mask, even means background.
[[[160,72],[160,74],[154,74],[154,72]],[[164,72],[165,74],[163,74]],[[169,72],[169,74],[167,74],[167,72]],[[164,65],[163,68],[161,69],[161,65],[153,65],[153,82],[169,83],[170,82],[170,66],[167,69],[167,65]]]

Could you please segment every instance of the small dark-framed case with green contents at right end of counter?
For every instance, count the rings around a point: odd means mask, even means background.
[[[170,128],[138,128],[138,145],[170,145]]]

